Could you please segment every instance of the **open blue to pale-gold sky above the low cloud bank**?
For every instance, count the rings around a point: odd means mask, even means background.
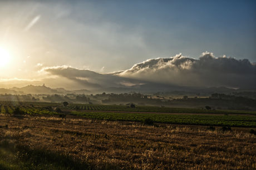
[[[203,52],[256,62],[255,1],[0,1],[1,78],[43,67],[108,73]]]

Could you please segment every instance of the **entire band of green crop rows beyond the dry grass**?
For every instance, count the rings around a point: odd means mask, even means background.
[[[14,109],[17,107],[25,114],[48,114],[58,115],[53,112],[51,106],[61,106],[61,103],[43,103],[43,102],[9,102],[1,101],[1,112],[3,114],[14,114]],[[31,104],[33,103],[33,105]],[[136,106],[130,108],[127,106],[117,105],[92,105],[92,104],[70,104],[61,109],[77,109],[99,112],[71,112],[72,116],[82,116],[92,119],[105,119],[109,121],[132,121],[142,122],[149,118],[155,123],[169,124],[191,124],[204,126],[230,126],[230,127],[256,127],[255,116],[241,116],[241,114],[253,114],[253,111],[224,111],[224,110],[205,110],[192,108],[169,108],[169,107],[152,107],[152,106]],[[130,113],[102,113],[101,111],[119,111]],[[147,113],[136,113],[147,112]],[[157,112],[158,114],[155,114]],[[160,114],[160,113],[177,113],[177,114]],[[194,114],[179,114],[179,113],[194,113]],[[225,114],[214,116],[209,114]],[[240,114],[236,116],[234,114]],[[228,116],[229,115],[229,116]]]

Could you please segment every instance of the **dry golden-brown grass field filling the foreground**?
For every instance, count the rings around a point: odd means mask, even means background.
[[[0,127],[0,169],[256,169],[256,137],[233,128],[71,116],[0,116]]]

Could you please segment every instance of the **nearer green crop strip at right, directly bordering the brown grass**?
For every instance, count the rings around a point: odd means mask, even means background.
[[[146,113],[100,113],[71,112],[73,116],[82,116],[107,121],[142,122],[150,118],[155,123],[193,124],[204,126],[256,127],[256,117],[252,116],[213,116],[185,114],[146,114]]]

